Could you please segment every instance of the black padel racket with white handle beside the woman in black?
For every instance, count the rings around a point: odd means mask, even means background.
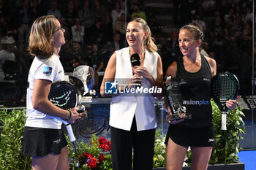
[[[219,72],[211,80],[211,96],[222,112],[222,130],[227,130],[226,101],[236,99],[239,92],[239,81],[236,75],[230,72]]]

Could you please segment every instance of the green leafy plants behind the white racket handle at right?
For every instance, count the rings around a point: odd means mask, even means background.
[[[242,149],[239,145],[239,139],[243,139],[241,135],[245,131],[244,113],[239,107],[228,111],[227,131],[222,131],[222,113],[213,100],[211,101],[211,105],[214,116],[216,145],[211,153],[210,163],[236,162],[239,159],[237,153]]]

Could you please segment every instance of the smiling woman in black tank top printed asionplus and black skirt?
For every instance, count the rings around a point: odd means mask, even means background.
[[[181,80],[181,96],[191,120],[171,121],[167,131],[166,169],[182,169],[188,147],[192,150],[192,170],[208,167],[215,144],[211,110],[211,78],[217,72],[216,61],[199,53],[203,41],[203,28],[195,22],[183,26],[178,43],[183,54],[167,69],[166,76]],[[199,102],[198,102],[199,101]],[[228,109],[237,106],[236,100],[227,101]],[[169,114],[170,108],[167,107]]]

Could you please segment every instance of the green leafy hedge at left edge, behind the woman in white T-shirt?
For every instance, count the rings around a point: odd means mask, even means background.
[[[0,111],[0,169],[31,169],[31,157],[21,154],[26,110]]]

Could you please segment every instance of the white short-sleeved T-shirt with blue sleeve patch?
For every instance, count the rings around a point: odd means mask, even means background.
[[[38,79],[49,80],[51,82],[64,80],[64,69],[59,60],[59,56],[53,54],[50,58],[46,59],[35,57],[31,64],[26,95],[27,120],[25,126],[61,129],[61,122],[57,117],[39,112],[32,106],[31,97],[34,90],[34,81]]]

